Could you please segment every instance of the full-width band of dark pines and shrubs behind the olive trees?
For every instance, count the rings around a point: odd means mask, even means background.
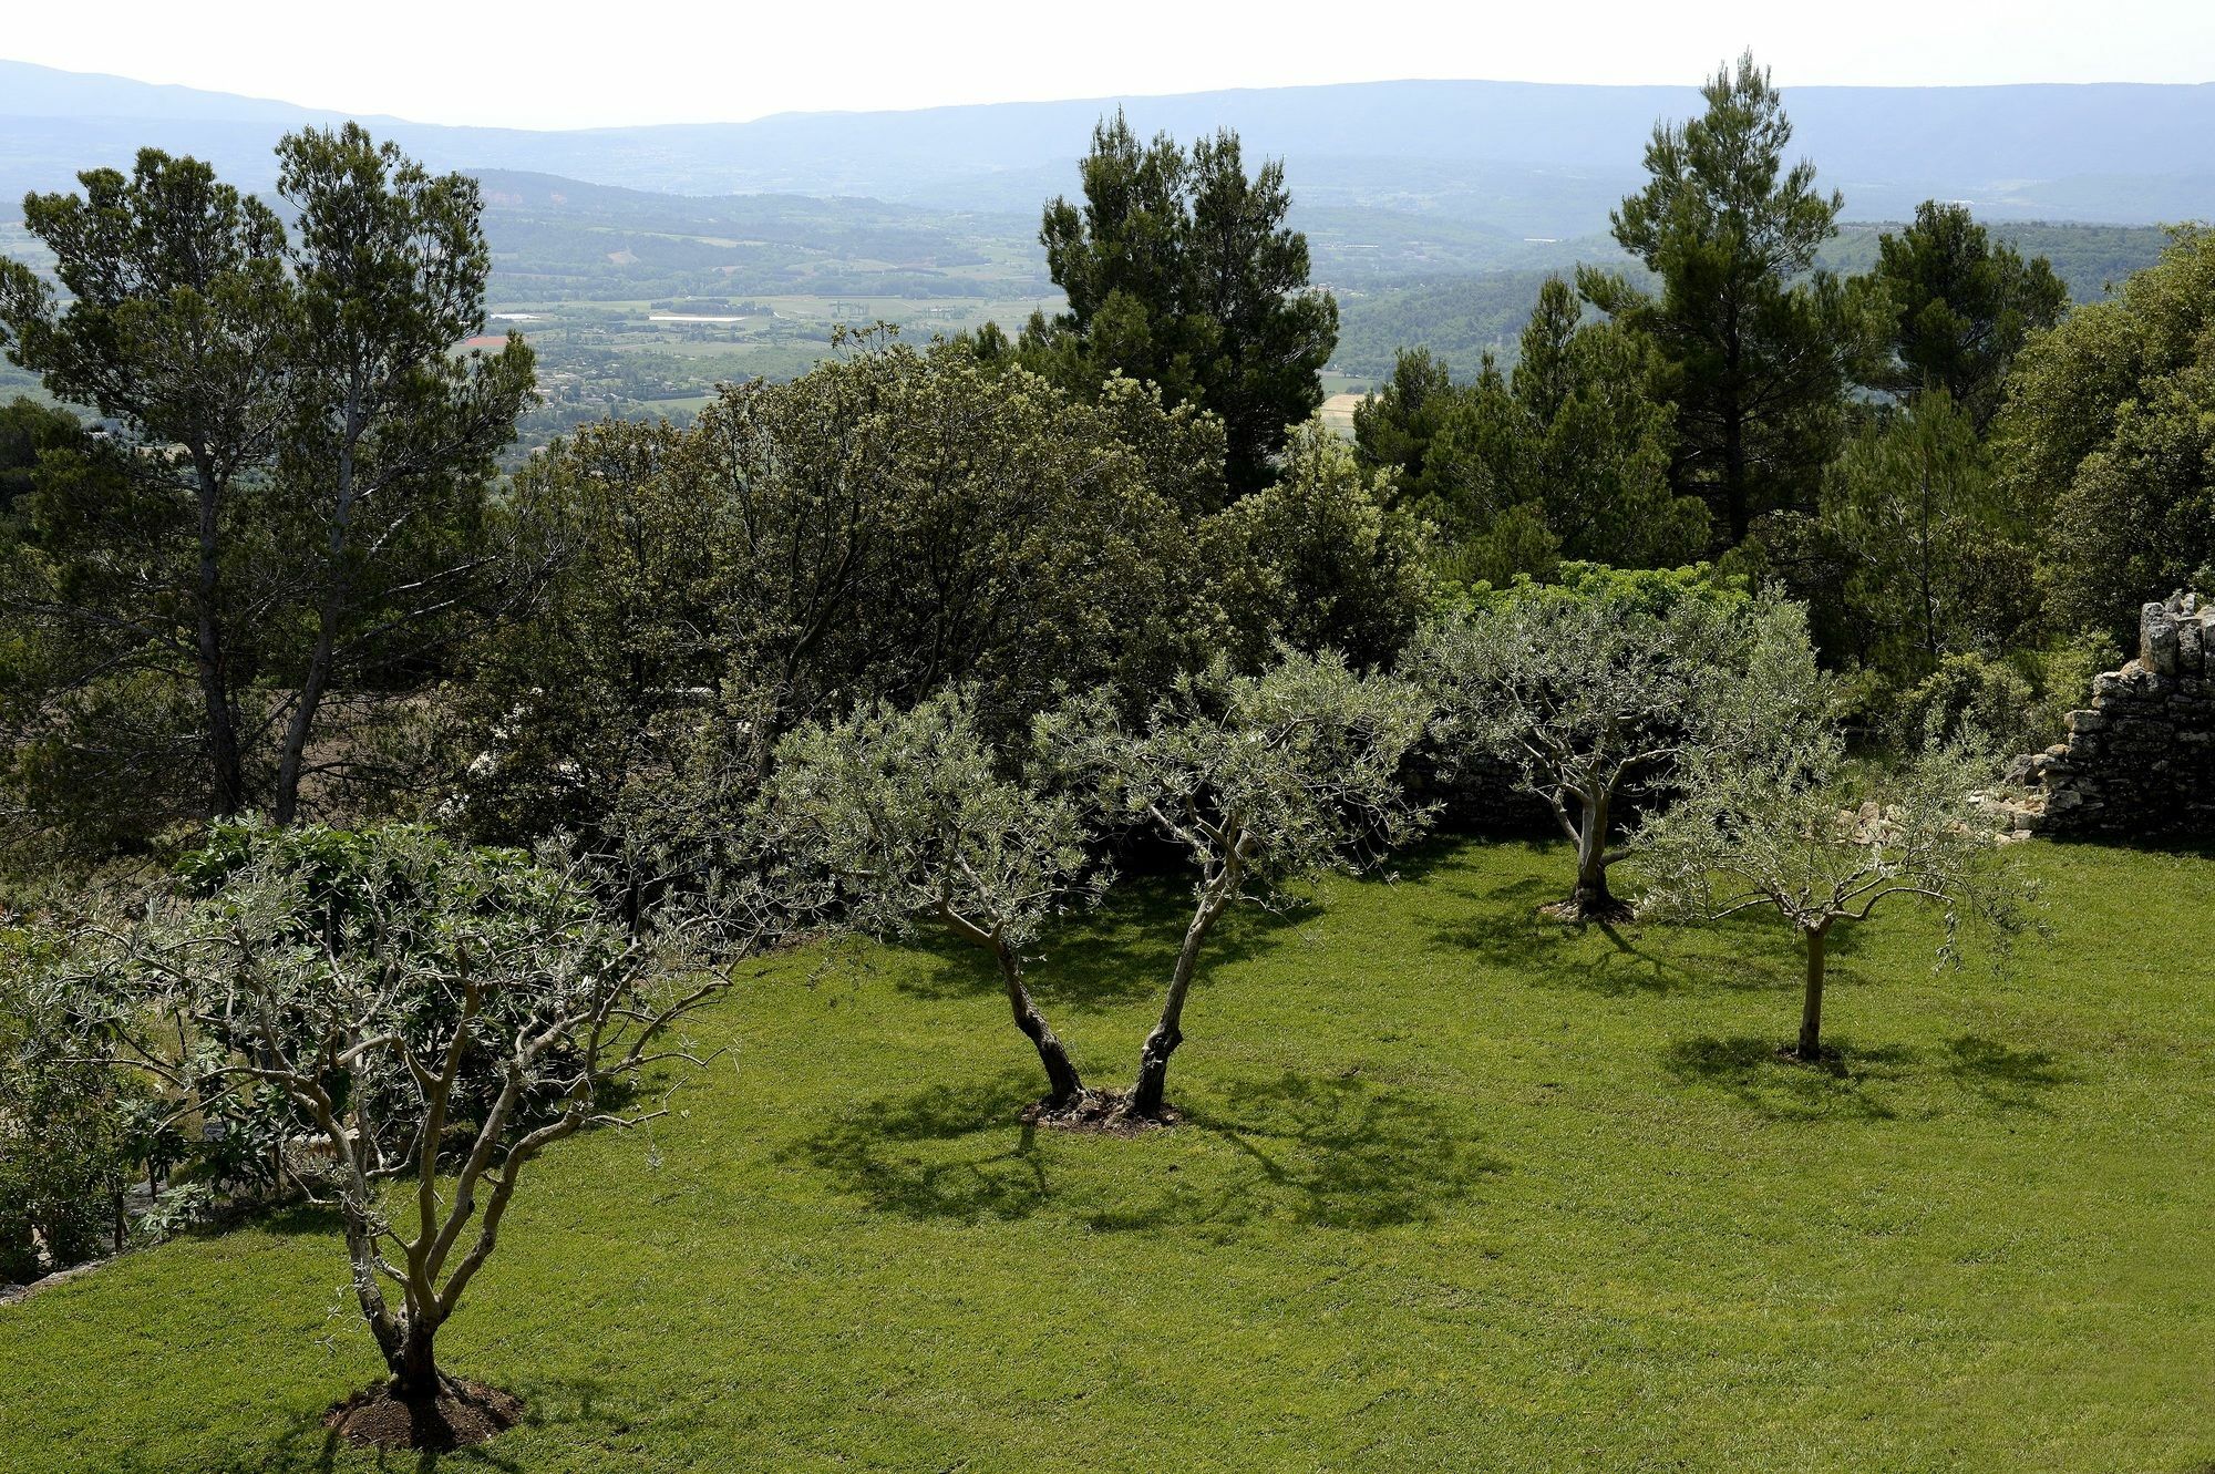
[[[1974,710],[2036,744],[2135,604],[2215,564],[2204,277],[2184,235],[2067,321],[2053,274],[1925,206],[1812,268],[1838,199],[1743,60],[1657,131],[1617,237],[1650,288],[1548,283],[1513,370],[1404,354],[1351,454],[1309,412],[1329,297],[1280,170],[1103,122],[1017,341],[859,334],[689,429],[602,423],[512,485],[529,398],[481,325],[474,186],[357,131],[284,144],[279,219],[206,166],[29,201],[0,345],[97,429],[0,434],[20,832],[155,845],[206,814],[423,812],[600,834],[704,706],[753,770],[824,710],[1057,682],[1139,713],[1278,640],[1395,657],[1438,598],[1697,558],[1810,604],[1856,730]],[[109,795],[128,790],[131,806]]]

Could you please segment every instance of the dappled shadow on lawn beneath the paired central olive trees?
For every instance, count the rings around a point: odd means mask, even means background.
[[[1234,1080],[1178,1133],[1223,1146],[1163,1160],[1145,1140],[1063,1138],[1012,1118],[1037,1080],[1003,1076],[886,1096],[789,1149],[877,1213],[975,1224],[1054,1211],[1096,1233],[1260,1224],[1389,1228],[1429,1219],[1502,1171],[1442,1104],[1360,1076]],[[1072,1171],[1068,1151],[1125,1171]],[[1054,1158],[1061,1158],[1059,1162]]]

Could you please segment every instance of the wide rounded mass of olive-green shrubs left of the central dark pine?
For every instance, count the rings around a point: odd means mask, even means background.
[[[1074,401],[884,339],[691,429],[591,427],[501,522],[529,598],[470,653],[463,823],[609,843],[704,722],[760,779],[784,733],[952,679],[992,735],[1061,682],[1158,686],[1220,637],[1194,556],[1227,544],[1220,465],[1214,421],[1134,381]]]

